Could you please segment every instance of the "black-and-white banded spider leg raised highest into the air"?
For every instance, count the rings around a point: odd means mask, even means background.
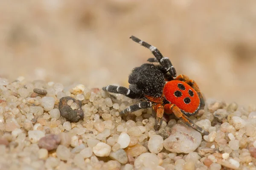
[[[150,49],[150,51],[152,52],[152,54],[155,56],[156,59],[149,58],[148,59],[149,62],[156,62],[156,61],[158,61],[158,63],[160,63],[160,65],[162,66],[163,73],[169,72],[169,74],[172,75],[172,77],[176,77],[176,70],[172,66],[172,63],[169,60],[169,58],[163,57],[161,52],[156,47],[151,46],[149,43],[146,43],[145,41],[140,40],[139,38],[134,37],[134,36],[131,36],[130,38],[134,42],[139,43],[140,45],[146,47],[147,49]]]

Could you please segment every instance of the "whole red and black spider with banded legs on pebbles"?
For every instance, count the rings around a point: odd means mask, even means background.
[[[150,49],[155,58],[149,58],[149,63],[144,63],[132,70],[128,78],[129,88],[113,85],[102,88],[132,99],[143,99],[140,103],[122,110],[120,115],[152,107],[157,116],[155,130],[160,128],[164,113],[173,113],[189,127],[208,135],[208,132],[189,119],[189,116],[195,115],[205,106],[203,95],[195,81],[190,80],[186,75],[177,76],[169,58],[163,57],[156,47],[137,37],[131,36],[130,38]]]

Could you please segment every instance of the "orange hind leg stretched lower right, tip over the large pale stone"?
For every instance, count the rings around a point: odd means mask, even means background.
[[[204,131],[201,127],[198,127],[194,122],[192,122],[186,115],[184,115],[180,109],[175,104],[164,105],[164,111],[166,113],[173,113],[177,118],[181,119],[186,125],[192,127],[203,135],[209,135],[208,132]]]

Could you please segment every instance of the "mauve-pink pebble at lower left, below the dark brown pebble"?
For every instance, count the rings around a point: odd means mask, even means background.
[[[47,135],[38,141],[38,146],[47,150],[55,150],[61,143],[61,138],[58,135]]]

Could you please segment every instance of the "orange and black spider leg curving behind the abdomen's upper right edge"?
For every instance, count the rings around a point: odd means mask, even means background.
[[[195,89],[195,91],[198,93],[198,97],[200,98],[200,108],[199,109],[204,109],[204,106],[205,106],[204,97],[198,87],[198,84],[195,81],[190,80],[189,77],[186,75],[178,75],[177,78],[175,78],[175,80],[184,81],[186,84],[188,84],[193,89]]]

